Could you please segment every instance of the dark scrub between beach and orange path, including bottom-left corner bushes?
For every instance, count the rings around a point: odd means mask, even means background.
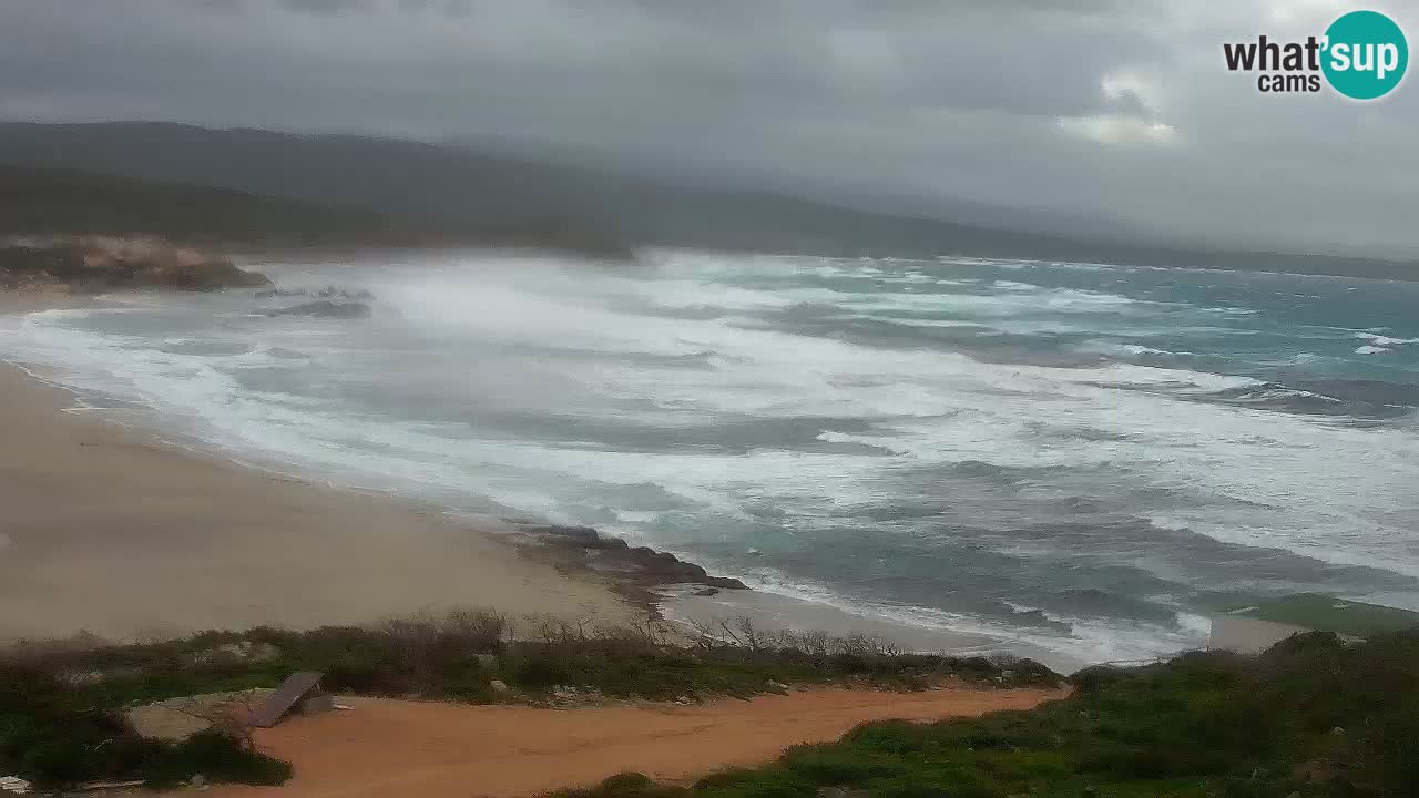
[[[912,690],[954,677],[995,686],[1056,684],[1030,660],[905,655],[870,638],[765,635],[744,622],[722,638],[671,645],[658,626],[597,629],[551,619],[522,626],[495,612],[453,612],[377,628],[258,628],[111,646],[21,645],[0,657],[0,771],[44,788],[143,780],[280,784],[291,768],[240,726],[183,741],[148,740],[125,721],[136,704],[275,687],[298,670],[326,690],[468,703],[779,693],[853,683]]]

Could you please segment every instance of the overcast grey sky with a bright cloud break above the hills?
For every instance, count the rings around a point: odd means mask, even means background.
[[[1419,6],[1340,0],[0,0],[0,119],[491,142],[1413,256],[1419,77],[1355,102],[1223,64],[1359,7],[1419,31]]]

